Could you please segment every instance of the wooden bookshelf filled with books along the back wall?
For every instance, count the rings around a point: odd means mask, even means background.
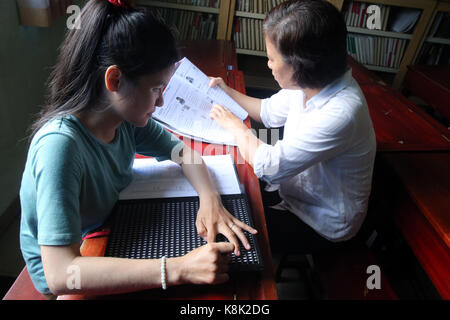
[[[198,39],[205,37],[205,32],[199,29],[198,18],[214,24],[208,37],[219,40],[233,40],[236,52],[240,55],[266,57],[264,38],[262,37],[262,22],[266,13],[283,0],[135,0],[137,5],[150,6],[165,10],[166,22],[175,25],[180,31],[179,40]],[[439,18],[439,12],[449,12],[450,3],[438,0],[328,0],[344,15],[349,3],[358,5],[375,4],[383,8],[381,30],[371,30],[365,27],[365,19],[359,23],[347,23],[349,54],[374,71],[388,72],[393,76],[393,86],[400,89],[407,66],[420,60],[420,54],[426,54],[431,45],[449,46],[450,40],[434,37],[433,21]],[[367,7],[367,6],[366,6]],[[361,9],[361,7],[359,7]],[[393,32],[389,30],[389,19],[398,8],[416,9],[420,11],[414,28],[409,32]],[[189,12],[181,14],[179,21],[174,21],[173,12]],[[189,15],[189,18],[186,16]],[[361,19],[361,16],[359,17]],[[170,20],[171,21],[167,21]],[[197,19],[197,20],[196,20]],[[194,21],[197,21],[197,25]],[[211,27],[210,27],[211,28]],[[367,40],[369,39],[369,40]],[[354,52],[351,51],[352,45]],[[372,48],[361,53],[356,48]],[[381,53],[383,52],[383,53]],[[389,54],[391,58],[389,59]],[[388,57],[386,60],[386,57]],[[389,62],[389,63],[388,63]]]

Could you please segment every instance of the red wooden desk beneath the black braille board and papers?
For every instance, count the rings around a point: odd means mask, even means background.
[[[237,64],[233,57],[236,53],[229,41],[192,41],[182,42],[183,53],[195,63],[203,72],[210,76],[221,76],[236,90],[245,93],[242,73],[237,71]],[[219,63],[217,63],[219,61]],[[230,67],[231,66],[231,67]],[[250,127],[250,120],[246,119]],[[231,153],[234,156],[240,182],[244,185],[251,207],[255,228],[258,230],[258,244],[261,249],[264,270],[259,273],[233,274],[225,284],[216,286],[186,285],[171,287],[167,291],[152,289],[109,296],[112,299],[277,299],[276,285],[273,276],[272,257],[264,208],[259,191],[259,181],[253,169],[243,160],[236,147],[209,145],[183,138],[183,141],[201,154],[214,155]],[[103,256],[107,238],[94,238],[84,241],[83,256]],[[85,296],[65,296],[64,299],[85,299]],[[93,298],[93,297],[91,297]],[[105,297],[101,297],[104,299]]]

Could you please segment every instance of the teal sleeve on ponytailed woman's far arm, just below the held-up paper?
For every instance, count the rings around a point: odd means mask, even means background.
[[[172,159],[172,153],[177,154],[184,146],[177,136],[151,118],[145,127],[135,128],[134,137],[137,153],[159,161]]]

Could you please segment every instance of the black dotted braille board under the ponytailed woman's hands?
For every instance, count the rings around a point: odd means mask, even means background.
[[[245,195],[222,196],[224,207],[239,220],[253,226]],[[111,233],[105,256],[130,259],[159,259],[185,255],[206,244],[195,228],[198,197],[120,201],[110,220]],[[241,245],[233,254],[230,271],[263,268],[254,235],[244,232],[252,247]],[[227,241],[222,235],[217,241]]]

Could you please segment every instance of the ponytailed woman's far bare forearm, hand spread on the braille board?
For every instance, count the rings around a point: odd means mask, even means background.
[[[235,246],[235,254],[240,255],[237,236],[244,247],[249,250],[250,244],[243,230],[253,234],[256,234],[257,231],[235,218],[223,207],[220,195],[211,182],[208,168],[200,154],[187,146],[183,148],[182,152],[183,173],[200,198],[200,208],[196,220],[197,233],[206,238],[209,243],[216,240],[218,233],[223,234]]]

